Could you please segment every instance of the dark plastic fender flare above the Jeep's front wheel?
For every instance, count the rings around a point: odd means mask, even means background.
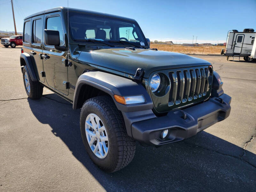
[[[79,76],[76,82],[73,109],[77,108],[79,92],[81,91],[81,87],[84,84],[90,85],[109,94],[113,98],[118,110],[122,112],[143,111],[153,108],[153,102],[151,100],[151,97],[149,96],[147,90],[142,84],[136,83],[128,78],[105,73],[102,71],[87,71],[83,73],[81,76]],[[143,95],[145,98],[145,103],[124,105],[116,102],[116,100],[114,99],[114,95]]]

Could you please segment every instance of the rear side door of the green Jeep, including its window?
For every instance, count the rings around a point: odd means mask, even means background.
[[[32,18],[31,50],[29,52],[31,57],[35,59],[39,79],[41,82],[44,82],[44,77],[42,76],[42,72],[44,71],[43,60],[40,57],[40,54],[43,52],[43,23],[44,15]]]

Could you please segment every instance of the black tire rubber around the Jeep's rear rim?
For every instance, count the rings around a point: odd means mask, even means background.
[[[28,81],[29,81],[29,84],[30,84],[30,92],[28,92],[28,90],[26,88],[25,72],[27,72],[27,74],[28,74]],[[23,74],[23,82],[24,82],[25,90],[26,90],[26,93],[27,93],[28,97],[31,98],[31,99],[40,99],[43,95],[43,88],[44,87],[38,81],[32,81],[31,76],[28,72],[27,66],[23,67],[22,74]]]

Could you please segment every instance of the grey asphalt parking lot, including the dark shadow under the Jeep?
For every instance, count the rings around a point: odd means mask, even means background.
[[[256,63],[196,56],[222,77],[230,116],[181,142],[137,144],[131,164],[106,173],[84,150],[80,110],[45,88],[27,98],[20,48],[0,45],[0,191],[255,191]]]

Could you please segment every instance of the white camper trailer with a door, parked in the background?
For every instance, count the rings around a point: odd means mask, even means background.
[[[237,30],[228,31],[224,55],[228,57],[244,57],[244,60],[250,61],[249,56],[252,53],[252,46],[255,39],[254,29],[244,29],[243,32]]]

